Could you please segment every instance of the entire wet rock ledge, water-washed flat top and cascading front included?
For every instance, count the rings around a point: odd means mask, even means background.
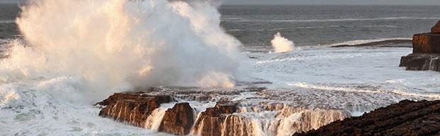
[[[340,91],[340,87],[353,91]],[[336,90],[319,88],[280,91],[256,86],[161,86],[114,94],[97,104],[102,108],[99,115],[130,125],[173,135],[216,136],[292,135],[343,120],[357,111],[373,111],[403,99],[419,100],[380,91],[380,86],[348,84],[336,86]],[[375,101],[371,101],[373,97]]]

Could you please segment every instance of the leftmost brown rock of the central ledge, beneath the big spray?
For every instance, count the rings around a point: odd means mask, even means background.
[[[171,96],[148,96],[144,92],[116,93],[97,104],[105,106],[99,116],[113,118],[143,127],[148,116],[162,103],[170,103]]]

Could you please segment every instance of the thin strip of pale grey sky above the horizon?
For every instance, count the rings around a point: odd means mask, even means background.
[[[440,0],[225,0],[224,4],[295,5],[440,5]]]

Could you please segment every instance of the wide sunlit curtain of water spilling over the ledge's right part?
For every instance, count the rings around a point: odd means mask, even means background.
[[[197,116],[199,124],[194,127],[192,135],[288,136],[295,132],[317,129],[335,120],[343,120],[349,114],[338,110],[295,108],[275,104],[241,107],[239,113],[223,117],[207,118],[200,114]]]

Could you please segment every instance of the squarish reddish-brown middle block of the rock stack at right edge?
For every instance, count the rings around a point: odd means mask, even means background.
[[[413,53],[440,53],[440,34],[422,33],[412,38]]]

